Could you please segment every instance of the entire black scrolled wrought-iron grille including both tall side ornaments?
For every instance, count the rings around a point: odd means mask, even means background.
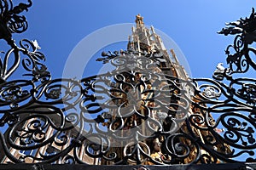
[[[21,40],[19,47],[12,40],[12,33],[26,31],[27,22],[18,14],[31,5],[28,1],[13,7],[11,1],[1,1],[1,38],[10,46],[0,62],[0,126],[8,127],[0,133],[4,162],[172,165],[255,161],[256,80],[232,77],[248,70],[248,66],[241,68],[245,63],[253,67],[249,52],[254,49],[248,45],[254,41],[249,41],[254,11],[250,18],[220,32],[238,35],[227,48],[236,52],[227,52],[230,68],[219,64],[215,80],[164,74],[160,71],[163,54],[128,49],[102,53],[97,60],[115,69],[78,81],[52,80],[38,43]],[[15,64],[8,67],[12,53]],[[28,80],[9,81],[20,60]],[[227,83],[222,82],[224,78]]]

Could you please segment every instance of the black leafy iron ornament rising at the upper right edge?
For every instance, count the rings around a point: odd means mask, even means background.
[[[256,13],[254,13],[254,8],[249,18],[241,18],[240,20],[227,23],[227,27],[218,31],[218,33],[225,36],[229,34],[236,35],[234,44],[226,49],[226,54],[228,55],[226,61],[230,65],[230,74],[246,72],[249,69],[249,65],[256,70],[256,64],[249,56],[250,52],[256,54],[256,50],[255,48],[248,47],[253,42],[256,42]],[[231,49],[235,51],[234,54],[231,54]]]

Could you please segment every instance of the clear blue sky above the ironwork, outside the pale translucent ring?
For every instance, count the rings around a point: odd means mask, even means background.
[[[249,16],[253,5],[252,0],[34,0],[26,13],[29,29],[16,39],[37,39],[49,71],[61,77],[68,55],[85,36],[104,26],[133,23],[142,14],[146,25],[177,42],[192,77],[212,77],[215,66],[225,63],[224,49],[233,38],[217,31],[225,22]]]

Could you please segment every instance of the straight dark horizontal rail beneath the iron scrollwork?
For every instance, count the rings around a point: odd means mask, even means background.
[[[50,164],[20,164],[19,166],[15,164],[3,164],[0,166],[0,170],[87,170],[87,169],[102,169],[102,170],[253,170],[256,169],[254,163],[224,163],[224,164],[203,164],[203,165],[172,165],[172,166],[127,166],[127,165],[116,165],[116,166],[90,166],[90,165],[50,165]]]

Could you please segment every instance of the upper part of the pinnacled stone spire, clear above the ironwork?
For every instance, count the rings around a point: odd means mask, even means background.
[[[144,52],[149,54],[158,53],[161,55],[159,61],[160,69],[162,71],[174,77],[183,77],[183,79],[187,79],[188,74],[178,62],[174,50],[170,49],[170,53],[167,52],[160,35],[154,30],[154,26],[150,26],[149,28],[145,26],[141,14],[136,15],[135,22],[136,26],[131,28],[132,31],[127,49],[133,49],[139,52],[139,55]]]

